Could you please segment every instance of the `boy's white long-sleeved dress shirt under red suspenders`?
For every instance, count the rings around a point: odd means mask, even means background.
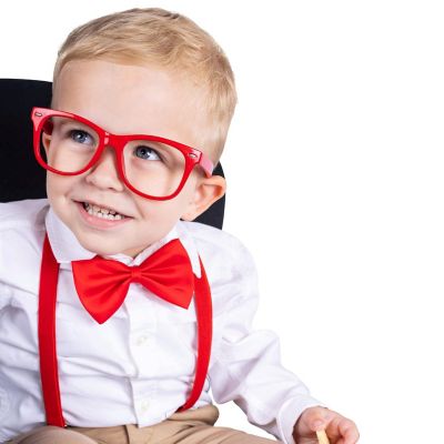
[[[63,415],[74,426],[159,423],[186,400],[194,381],[196,319],[137,283],[104,324],[81,305],[71,261],[95,253],[83,249],[48,200],[0,203],[0,442],[43,425],[39,373],[38,293],[44,233],[60,263],[57,347]],[[320,405],[280,363],[278,337],[252,331],[258,305],[251,255],[232,235],[195,222],[178,222],[137,258],[138,265],[179,238],[194,273],[199,255],[213,300],[213,345],[209,374],[195,407],[234,401],[252,424],[292,443],[294,422]],[[210,394],[210,389],[212,396]]]

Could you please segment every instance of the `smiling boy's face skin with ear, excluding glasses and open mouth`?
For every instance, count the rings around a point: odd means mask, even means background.
[[[52,108],[82,115],[115,134],[154,134],[201,149],[199,90],[169,71],[102,60],[71,61],[60,72]],[[206,153],[209,154],[209,153]],[[163,238],[180,218],[192,220],[223,195],[220,179],[194,171],[174,199],[154,201],[131,192],[118,174],[114,151],[80,175],[48,172],[48,198],[83,248],[98,254],[135,256]],[[219,182],[218,182],[219,181]],[[206,199],[206,200],[205,200]],[[82,203],[125,215],[104,221]]]

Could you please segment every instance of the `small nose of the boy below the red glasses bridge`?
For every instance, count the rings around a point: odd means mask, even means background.
[[[115,152],[111,147],[105,147],[100,159],[87,173],[85,181],[102,190],[124,190],[119,176]]]

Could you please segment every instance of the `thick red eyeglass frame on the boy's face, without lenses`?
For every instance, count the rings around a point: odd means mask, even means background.
[[[97,152],[92,157],[90,162],[87,164],[87,167],[84,167],[82,170],[75,171],[75,172],[70,172],[70,173],[59,171],[59,170],[56,170],[54,168],[48,165],[44,162],[44,160],[41,158],[41,155],[40,155],[40,133],[41,133],[44,122],[50,117],[64,117],[64,118],[75,119],[79,122],[91,127],[99,135],[99,145],[98,145]],[[175,198],[182,191],[182,188],[185,184],[185,182],[186,182],[188,178],[190,176],[191,171],[194,169],[194,167],[196,167],[196,165],[201,167],[208,178],[211,178],[212,173],[213,173],[213,169],[214,169],[213,162],[202,151],[199,151],[195,148],[188,147],[183,143],[175,142],[174,140],[161,138],[159,135],[150,135],[150,134],[112,134],[112,133],[103,130],[95,123],[91,122],[90,120],[82,118],[81,115],[73,114],[71,112],[65,112],[65,111],[51,110],[48,108],[34,107],[31,111],[31,120],[33,123],[33,148],[34,148],[36,159],[41,167],[43,167],[46,170],[51,171],[56,174],[61,174],[61,175],[82,174],[85,171],[88,171],[89,169],[91,169],[98,162],[98,160],[102,155],[102,152],[105,147],[111,147],[115,151],[115,155],[117,155],[117,160],[118,160],[119,175],[123,180],[124,184],[132,192],[134,192],[145,199],[155,200],[155,201],[167,201],[169,199]],[[181,182],[179,183],[178,189],[173,193],[171,193],[167,196],[162,196],[162,198],[145,194],[145,193],[142,193],[141,191],[139,191],[138,189],[135,189],[134,186],[132,186],[131,183],[128,181],[125,173],[124,173],[124,169],[123,169],[123,164],[124,164],[123,148],[128,142],[130,142],[132,140],[141,140],[141,139],[169,144],[171,147],[174,147],[179,151],[181,151],[181,153],[183,154],[183,157],[185,159],[185,170],[183,172],[183,176],[182,176]]]

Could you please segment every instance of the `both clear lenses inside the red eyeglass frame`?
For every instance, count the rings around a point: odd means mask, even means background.
[[[40,157],[59,172],[81,171],[101,144],[94,129],[72,118],[50,117],[41,128]],[[159,198],[174,193],[185,171],[185,157],[180,150],[149,139],[127,142],[122,160],[129,183]]]

